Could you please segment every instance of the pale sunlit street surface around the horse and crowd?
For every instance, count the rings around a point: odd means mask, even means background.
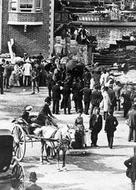
[[[11,120],[21,114],[23,106],[32,105],[37,112],[44,103],[47,89],[41,88],[39,94],[30,95],[30,89],[13,88],[0,95],[1,128],[11,129]],[[74,112],[74,110],[72,110]],[[122,112],[116,112],[119,126],[115,133],[114,147],[107,147],[104,130],[100,132],[99,148],[87,148],[83,151],[70,151],[67,156],[67,172],[58,172],[56,160],[51,164],[39,162],[40,144],[27,144],[27,151],[22,162],[25,168],[26,183],[31,171],[36,171],[38,184],[46,190],[129,190],[130,180],[125,175],[124,160],[133,155],[135,143],[127,142],[128,127],[122,118]],[[56,115],[59,120],[72,125],[77,114]],[[85,127],[88,127],[89,116],[83,115]],[[89,143],[89,142],[88,142]]]

